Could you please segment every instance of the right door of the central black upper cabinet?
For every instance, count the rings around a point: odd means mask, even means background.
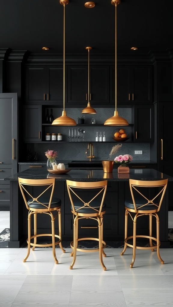
[[[91,103],[101,105],[109,103],[109,66],[91,65],[90,67]]]

